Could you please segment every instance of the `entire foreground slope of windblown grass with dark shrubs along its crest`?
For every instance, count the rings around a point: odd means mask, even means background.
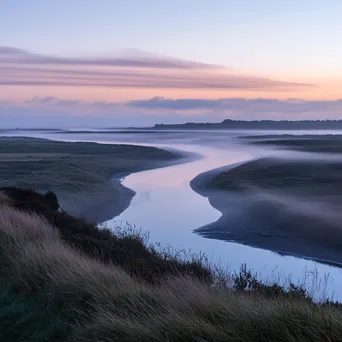
[[[43,196],[40,205],[38,197],[22,190],[12,189],[7,196],[12,206],[0,206],[1,341],[342,339],[339,306],[315,304],[302,288],[263,284],[246,267],[232,276],[233,287],[214,286],[211,277],[203,277],[213,270],[200,260],[196,271],[189,272],[191,263],[184,268],[174,257],[156,255],[146,246],[146,255],[130,261],[130,271],[121,258],[102,259],[91,248],[66,239],[47,214],[59,212],[51,194],[38,194]],[[74,235],[88,235],[90,241],[101,240],[108,250],[125,242],[129,254],[143,245],[139,235],[115,236],[83,221],[65,221],[64,227],[75,229]],[[130,239],[135,244],[126,243]],[[149,262],[158,270],[148,272],[151,279],[144,269],[134,271],[135,259],[146,261],[148,255],[176,272],[161,273],[159,263]]]

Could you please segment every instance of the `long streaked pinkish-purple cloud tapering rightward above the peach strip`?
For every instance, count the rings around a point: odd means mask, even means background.
[[[0,47],[0,85],[264,91],[312,86],[136,52],[116,58],[69,58],[10,47]]]

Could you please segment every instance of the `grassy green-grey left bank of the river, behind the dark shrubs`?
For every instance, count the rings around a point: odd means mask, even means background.
[[[0,137],[0,187],[54,191],[67,212],[103,222],[125,210],[134,196],[121,178],[189,158],[146,146]]]

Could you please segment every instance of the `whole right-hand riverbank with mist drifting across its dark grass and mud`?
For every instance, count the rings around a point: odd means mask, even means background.
[[[341,267],[341,167],[265,159],[200,174],[192,189],[222,216],[196,232]]]

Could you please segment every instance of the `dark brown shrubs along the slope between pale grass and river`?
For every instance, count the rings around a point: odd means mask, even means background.
[[[59,211],[57,196],[49,191],[45,195],[29,189],[2,188],[18,210],[43,216],[60,232],[60,237],[85,255],[105,263],[113,263],[126,272],[145,281],[154,282],[166,275],[183,274],[210,281],[211,272],[202,266],[200,259],[183,262],[177,257],[159,253],[145,245],[143,237],[135,234],[117,236],[95,223],[75,218]]]

